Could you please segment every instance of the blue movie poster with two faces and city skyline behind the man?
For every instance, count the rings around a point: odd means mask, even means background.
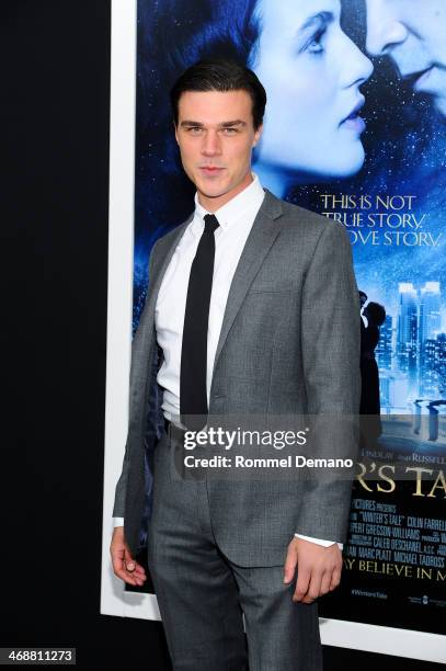
[[[341,221],[362,292],[362,412],[342,587],[320,615],[445,633],[446,4],[138,2],[134,329],[153,242],[193,211],[169,90],[199,58],[251,67],[268,103],[253,170]]]

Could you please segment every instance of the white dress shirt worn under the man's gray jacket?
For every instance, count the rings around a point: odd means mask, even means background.
[[[215,214],[219,223],[215,231],[215,261],[207,332],[206,389],[209,402],[214,360],[229,289],[247,238],[265,196],[259,178],[255,174],[252,177],[251,184],[215,213],[208,213],[195,194],[194,218],[178,243],[162,278],[155,309],[157,341],[163,351],[163,362],[157,380],[164,389],[161,408],[169,421],[178,422],[180,418],[180,369],[184,312],[191,265],[205,227],[204,217],[206,214]],[[115,526],[121,526],[123,523],[122,518],[115,518]],[[334,543],[301,534],[295,534],[295,536],[325,547]],[[338,545],[342,549],[342,544]]]

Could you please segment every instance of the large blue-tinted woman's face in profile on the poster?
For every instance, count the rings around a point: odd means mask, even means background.
[[[339,0],[259,0],[252,69],[267,93],[258,160],[313,179],[347,177],[364,162],[359,87],[368,58],[342,31]]]

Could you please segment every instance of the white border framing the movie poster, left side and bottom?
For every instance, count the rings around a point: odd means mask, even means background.
[[[128,421],[134,262],[136,25],[136,0],[112,0],[108,312],[101,613],[160,619],[156,596],[126,592],[124,583],[112,572],[108,554],[114,489],[121,473]],[[420,610],[420,617],[422,614]],[[320,625],[322,642],[328,646],[432,662],[446,661],[446,636],[342,619],[321,618]]]

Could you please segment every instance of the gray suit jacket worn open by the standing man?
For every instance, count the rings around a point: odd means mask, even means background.
[[[161,355],[155,307],[192,217],[155,244],[150,289],[133,341],[129,425],[114,516],[130,551],[150,533],[153,451],[160,436]],[[266,191],[230,287],[209,413],[354,414],[359,407],[359,303],[344,227]],[[345,445],[352,455],[352,445]],[[293,533],[343,542],[351,481],[209,480],[213,528],[240,566],[284,561]]]

